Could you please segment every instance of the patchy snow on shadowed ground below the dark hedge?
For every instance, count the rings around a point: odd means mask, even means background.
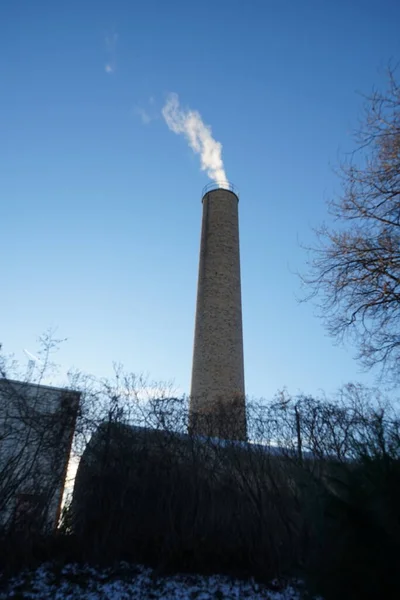
[[[300,600],[297,589],[265,586],[222,575],[156,576],[151,569],[121,564],[118,569],[96,569],[69,564],[45,564],[24,571],[7,584],[1,581],[0,599],[20,600]],[[271,589],[274,588],[274,589]],[[321,600],[321,599],[320,599]]]

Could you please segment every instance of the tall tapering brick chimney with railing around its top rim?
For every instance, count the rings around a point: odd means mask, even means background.
[[[246,440],[238,194],[230,183],[203,190],[190,428]]]

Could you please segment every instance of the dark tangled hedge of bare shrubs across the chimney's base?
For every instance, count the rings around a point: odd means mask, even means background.
[[[127,560],[299,576],[326,600],[400,593],[400,417],[376,390],[248,403],[242,443],[187,434],[187,399],[168,386],[146,396],[145,380],[121,368],[72,380],[82,393],[74,498],[57,532],[24,545],[3,535],[3,568]]]

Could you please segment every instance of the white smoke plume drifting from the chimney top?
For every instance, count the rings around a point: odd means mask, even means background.
[[[184,110],[179,105],[178,94],[169,94],[162,114],[171,131],[183,134],[189,146],[200,154],[201,169],[210,179],[227,181],[222,161],[222,144],[214,140],[211,127],[205,125],[197,110]]]

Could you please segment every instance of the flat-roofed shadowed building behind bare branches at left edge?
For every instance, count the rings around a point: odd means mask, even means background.
[[[80,393],[0,379],[0,526],[54,529]]]

